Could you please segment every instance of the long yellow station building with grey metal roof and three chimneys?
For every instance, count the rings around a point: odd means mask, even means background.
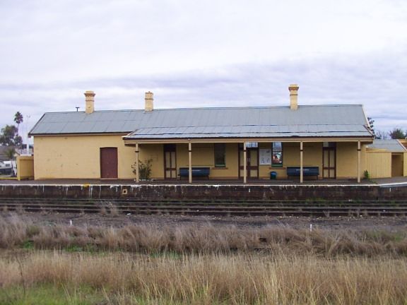
[[[374,146],[361,104],[299,105],[298,89],[289,86],[284,107],[155,109],[146,92],[144,109],[109,111],[95,111],[95,93],[86,91],[84,112],[45,113],[30,131],[35,179],[140,181],[148,160],[151,179],[189,182],[290,173],[303,181],[308,169],[313,179],[407,175],[406,148]]]

